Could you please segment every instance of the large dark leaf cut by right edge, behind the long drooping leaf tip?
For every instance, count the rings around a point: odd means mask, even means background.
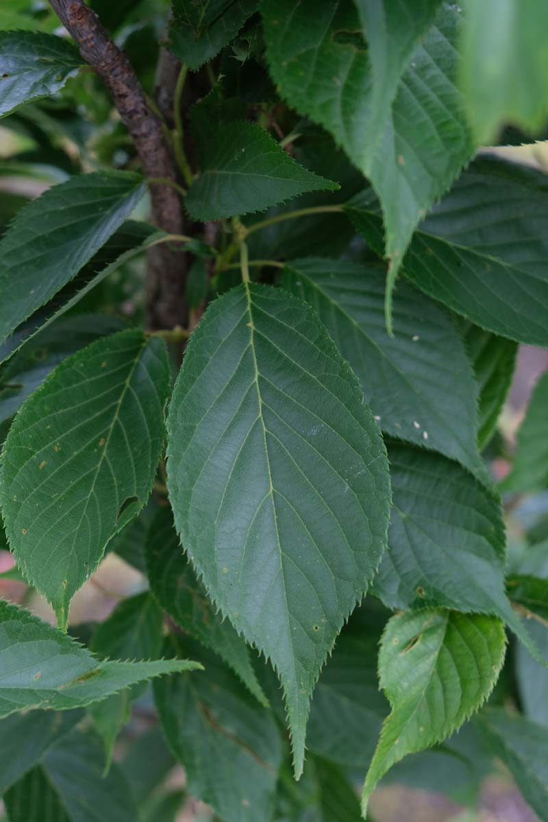
[[[482,156],[415,232],[405,273],[478,326],[548,345],[547,192],[546,174]],[[382,222],[371,190],[346,208],[381,253]]]

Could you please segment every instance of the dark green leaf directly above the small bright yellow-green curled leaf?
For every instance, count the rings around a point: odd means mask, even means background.
[[[375,593],[392,608],[496,614],[535,653],[504,592],[500,501],[441,455],[394,443],[389,460],[394,506]]]

